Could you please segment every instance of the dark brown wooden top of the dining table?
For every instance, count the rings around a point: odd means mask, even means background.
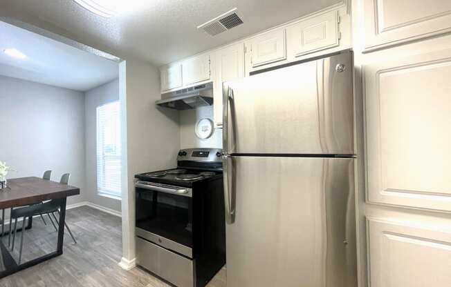
[[[72,195],[80,195],[80,188],[39,177],[8,179],[8,188],[0,189],[0,209],[26,206]]]

